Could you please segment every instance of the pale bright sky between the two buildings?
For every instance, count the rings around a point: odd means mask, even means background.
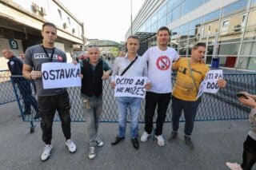
[[[145,0],[132,0],[133,19]],[[80,22],[86,38],[124,42],[130,27],[130,0],[61,0]]]

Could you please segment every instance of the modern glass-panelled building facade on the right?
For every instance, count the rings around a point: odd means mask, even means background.
[[[146,0],[132,24],[142,50],[156,45],[156,31],[170,28],[170,46],[189,57],[205,42],[206,64],[219,57],[226,69],[256,70],[256,0]],[[131,34],[131,29],[126,37]]]

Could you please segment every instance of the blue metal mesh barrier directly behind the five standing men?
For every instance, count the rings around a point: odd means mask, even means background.
[[[18,81],[22,77],[12,77],[14,82],[14,92],[18,98],[18,105],[21,110],[23,121],[38,121],[34,120],[35,109],[31,107],[31,114],[24,114],[24,101],[22,93],[19,92]],[[256,93],[256,73],[225,73],[224,78],[227,81],[225,89],[220,89],[216,94],[203,94],[202,103],[199,105],[198,113],[195,121],[218,121],[218,120],[237,120],[246,119],[250,108],[241,105],[238,102],[236,93],[239,91],[247,91]],[[173,81],[175,75],[172,76]],[[16,82],[15,82],[16,81]],[[118,109],[114,99],[114,91],[110,88],[110,81],[103,81],[103,113],[102,122],[118,122]],[[30,84],[33,89],[33,85]],[[72,121],[85,121],[82,109],[82,101],[80,100],[80,88],[68,89],[71,102],[71,119]],[[171,102],[170,102],[171,105]],[[166,122],[171,121],[170,105],[167,110]],[[139,122],[144,122],[145,101],[142,101]],[[129,120],[129,118],[128,118]],[[54,117],[54,121],[59,121],[58,114]],[[184,121],[184,117],[181,118]]]

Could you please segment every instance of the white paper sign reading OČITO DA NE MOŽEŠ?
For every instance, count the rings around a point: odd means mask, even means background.
[[[115,76],[114,97],[145,98],[147,77]]]

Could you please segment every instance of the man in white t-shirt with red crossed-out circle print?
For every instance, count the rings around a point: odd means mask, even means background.
[[[155,137],[159,146],[165,145],[162,137],[162,125],[166,119],[166,110],[170,102],[172,92],[171,84],[171,64],[178,60],[178,53],[175,49],[168,47],[170,42],[170,30],[162,26],[157,34],[158,45],[147,49],[143,58],[148,62],[148,77],[152,83],[152,88],[146,92],[145,107],[145,132],[141,140],[146,142],[153,129],[153,117],[158,105],[158,118],[155,129]]]

